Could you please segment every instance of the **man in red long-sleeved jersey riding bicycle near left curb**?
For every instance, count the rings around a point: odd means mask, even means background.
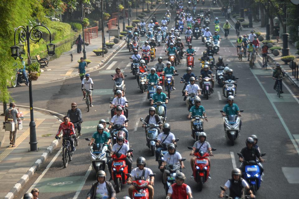
[[[76,136],[74,124],[69,121],[68,116],[63,117],[63,123],[59,125],[59,129],[56,133],[55,139],[58,139],[62,130],[62,137],[67,139],[72,147],[72,151],[75,151],[74,139],[72,136]]]

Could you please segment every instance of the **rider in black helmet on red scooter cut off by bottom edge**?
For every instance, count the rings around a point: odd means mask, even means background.
[[[150,174],[153,174],[152,170],[145,167],[146,160],[144,157],[141,157],[141,156],[137,158],[136,166],[137,167],[131,171],[131,176],[133,178],[130,176],[127,180],[127,183],[131,184],[132,180],[141,180],[141,179],[148,180],[150,178],[149,184],[144,188],[147,188],[149,191],[148,199],[153,199],[154,198],[154,187],[152,185],[154,185],[154,176],[150,177]],[[133,198],[132,194],[133,194],[134,189],[135,189],[135,187],[133,185],[131,185],[129,187],[128,192],[129,192],[129,196],[131,198]]]

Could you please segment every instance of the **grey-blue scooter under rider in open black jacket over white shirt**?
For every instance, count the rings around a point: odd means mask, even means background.
[[[140,122],[145,124],[146,146],[150,148],[151,156],[154,156],[156,151],[156,142],[154,140],[158,138],[159,124],[148,124],[143,118],[140,118]]]

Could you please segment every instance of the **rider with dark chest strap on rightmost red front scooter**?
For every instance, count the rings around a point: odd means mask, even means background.
[[[190,152],[190,155],[194,155],[194,151],[196,149],[199,149],[199,150],[202,150],[204,153],[209,153],[210,156],[213,156],[213,152],[212,152],[212,148],[210,146],[210,143],[206,141],[206,133],[205,132],[200,132],[199,133],[199,140],[196,141],[194,143],[194,145],[192,146],[192,150]],[[208,159],[208,164],[209,166],[211,166],[211,161],[210,161],[210,158],[209,157],[206,157]],[[193,171],[193,167],[194,167],[194,164],[195,164],[195,159],[196,159],[196,156],[193,156],[190,160],[190,165],[191,165],[191,169]],[[193,172],[192,172],[192,175],[191,175],[191,178],[193,178]],[[211,179],[210,175],[208,177],[209,179]]]

